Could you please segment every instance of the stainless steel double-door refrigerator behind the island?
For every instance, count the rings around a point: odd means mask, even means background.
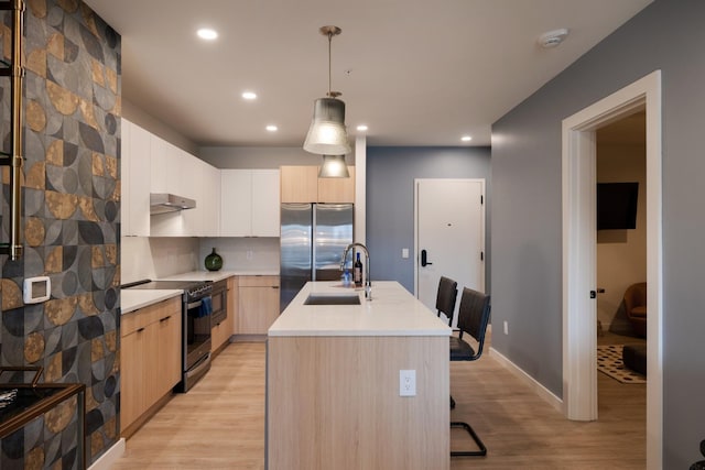
[[[280,311],[306,282],[340,278],[352,217],[351,204],[282,204]]]

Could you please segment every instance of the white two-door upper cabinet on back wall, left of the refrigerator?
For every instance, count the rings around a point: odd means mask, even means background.
[[[220,236],[279,237],[279,170],[220,171]]]

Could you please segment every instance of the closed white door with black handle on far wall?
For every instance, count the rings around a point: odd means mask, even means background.
[[[416,179],[416,297],[435,311],[441,276],[485,292],[485,181]],[[453,324],[456,325],[457,315]]]

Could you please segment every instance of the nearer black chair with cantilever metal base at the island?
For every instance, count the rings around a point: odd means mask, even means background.
[[[485,295],[481,292],[473,291],[465,287],[463,295],[460,296],[460,307],[458,309],[458,337],[451,337],[451,361],[476,361],[482,354],[482,347],[485,346],[485,332],[487,331],[487,324],[489,323],[489,295]],[[473,347],[463,339],[463,334],[467,332],[477,341],[477,352]],[[451,397],[451,404],[453,397]],[[467,430],[475,444],[479,447],[479,450],[462,450],[452,451],[451,456],[486,456],[487,447],[482,444],[482,440],[475,433],[473,427],[463,422],[452,422],[452,428],[463,428]]]

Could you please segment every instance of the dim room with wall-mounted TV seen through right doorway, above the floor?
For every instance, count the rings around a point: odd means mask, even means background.
[[[646,119],[640,109],[595,133],[597,338],[603,346],[644,342],[639,319],[636,330],[622,303],[631,285],[647,280]]]

